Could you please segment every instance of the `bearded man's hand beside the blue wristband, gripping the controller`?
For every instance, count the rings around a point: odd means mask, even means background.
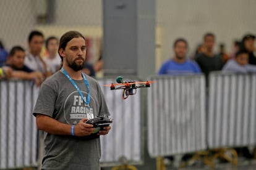
[[[85,123],[88,119],[83,118],[74,127],[75,136],[88,136],[95,130],[92,124]]]

